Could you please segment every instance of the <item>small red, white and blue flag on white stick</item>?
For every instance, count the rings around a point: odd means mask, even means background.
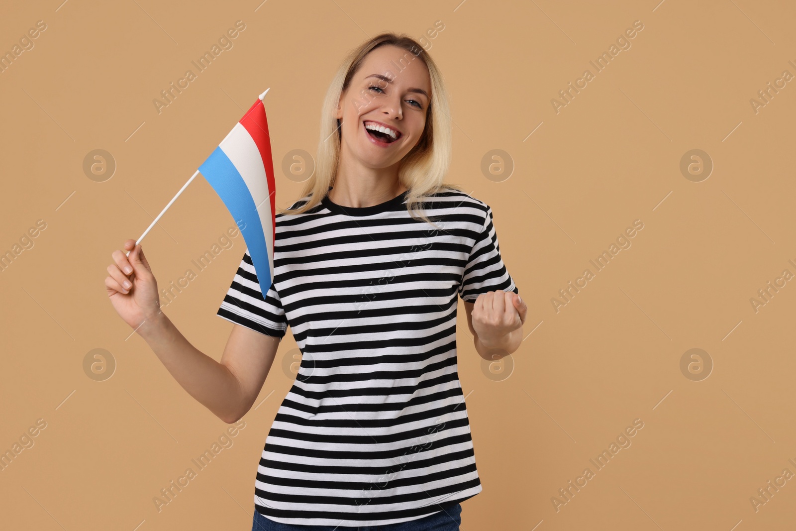
[[[259,95],[244,117],[232,127],[232,131],[135,242],[139,244],[143,240],[174,200],[201,173],[224,201],[244,236],[263,298],[274,280],[276,236],[276,182],[271,158],[271,136],[268,135],[263,105],[263,97],[268,90]]]

